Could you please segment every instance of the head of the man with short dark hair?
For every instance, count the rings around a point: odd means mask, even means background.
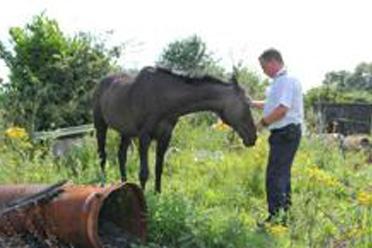
[[[273,78],[283,66],[283,58],[280,52],[274,48],[264,51],[258,58],[264,73]]]

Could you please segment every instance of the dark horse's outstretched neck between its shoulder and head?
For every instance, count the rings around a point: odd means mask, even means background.
[[[172,111],[177,115],[198,111],[220,112],[229,90],[227,86],[218,84],[184,87],[176,93],[175,101],[171,104]]]

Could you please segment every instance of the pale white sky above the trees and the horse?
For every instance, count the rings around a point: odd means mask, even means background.
[[[371,9],[370,0],[11,0],[1,4],[0,40],[44,11],[66,35],[112,30],[112,44],[129,44],[120,65],[141,68],[170,42],[197,34],[227,69],[242,60],[262,77],[257,57],[279,49],[308,90],[327,72],[372,62]],[[0,62],[0,77],[7,73]]]

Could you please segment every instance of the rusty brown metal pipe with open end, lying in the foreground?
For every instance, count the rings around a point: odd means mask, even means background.
[[[0,206],[45,189],[43,185],[0,186]],[[103,247],[105,226],[128,239],[146,239],[146,205],[135,184],[110,187],[64,185],[62,192],[46,203],[0,215],[0,233],[13,235],[39,229],[38,235],[53,235],[77,247]],[[33,204],[31,202],[31,204]],[[42,227],[40,227],[42,225]],[[108,229],[109,230],[109,229]],[[119,233],[118,233],[119,230]]]

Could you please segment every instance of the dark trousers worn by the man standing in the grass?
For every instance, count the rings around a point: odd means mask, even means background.
[[[274,129],[269,137],[266,193],[270,217],[291,205],[291,167],[301,140],[301,126]]]

